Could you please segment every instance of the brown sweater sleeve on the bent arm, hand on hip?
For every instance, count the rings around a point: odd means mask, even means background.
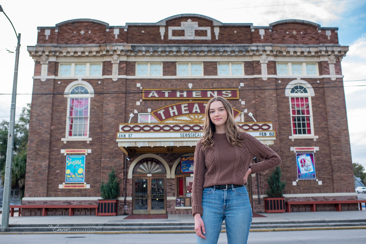
[[[260,163],[250,165],[252,174],[275,168],[277,165],[281,164],[280,156],[278,156],[277,153],[275,153],[275,151],[270,149],[268,146],[260,142],[257,138],[246,132],[244,132],[242,136],[244,137],[244,143],[249,148],[253,157],[265,159]]]

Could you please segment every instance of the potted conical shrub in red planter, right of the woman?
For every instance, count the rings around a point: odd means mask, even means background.
[[[269,190],[266,190],[268,197],[264,198],[265,213],[284,213],[285,197],[283,196],[283,190],[286,182],[281,181],[281,168],[279,166],[272,172],[267,183],[269,185]]]

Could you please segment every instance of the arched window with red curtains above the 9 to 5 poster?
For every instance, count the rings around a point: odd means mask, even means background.
[[[292,135],[311,135],[313,118],[311,97],[303,85],[294,85],[290,92],[290,113]]]

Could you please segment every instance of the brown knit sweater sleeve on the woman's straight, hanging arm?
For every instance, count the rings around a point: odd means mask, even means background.
[[[194,151],[194,171],[193,171],[193,184],[192,184],[192,214],[203,214],[202,207],[202,192],[203,183],[206,172],[205,154],[203,152],[203,145],[201,140],[197,142],[196,149]]]

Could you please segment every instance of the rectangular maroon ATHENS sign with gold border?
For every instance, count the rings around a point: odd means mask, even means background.
[[[239,89],[142,89],[142,99],[145,100],[182,100],[182,99],[211,99],[223,96],[226,99],[239,99]]]

